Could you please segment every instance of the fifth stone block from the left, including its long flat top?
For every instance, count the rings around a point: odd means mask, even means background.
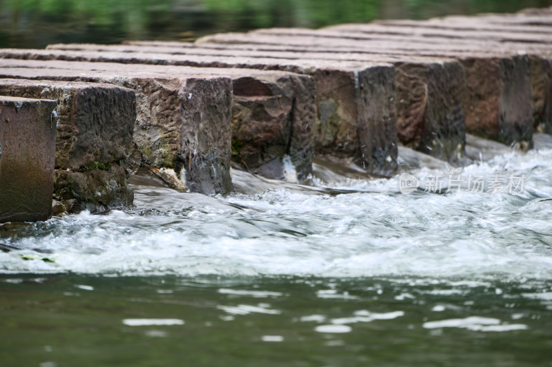
[[[287,60],[273,58],[193,56],[183,57],[170,54],[129,55],[126,52],[78,52],[59,50],[3,50],[1,58],[36,60],[113,61],[118,63],[155,63],[165,65],[189,65],[201,67],[248,67],[260,70],[283,70],[308,74],[317,81],[318,124],[335,123],[339,129],[322,153],[339,158],[353,158],[355,163],[374,174],[392,174],[397,167],[396,107],[389,96],[394,94],[395,79],[393,66],[388,63]],[[4,64],[6,65],[6,64]],[[361,79],[382,83],[363,87]],[[320,83],[320,81],[324,81]],[[385,90],[385,93],[373,93]],[[352,99],[351,99],[352,98]],[[347,101],[350,106],[341,105]],[[369,103],[368,103],[369,102]],[[378,111],[364,111],[366,106]],[[349,109],[349,107],[351,107]],[[326,109],[327,114],[320,112]],[[379,114],[386,114],[379,117]],[[373,120],[376,116],[377,120]],[[330,118],[328,120],[328,118]],[[383,124],[383,125],[382,125]],[[378,134],[385,134],[384,136]],[[326,136],[326,138],[328,138]],[[316,139],[316,134],[315,134]],[[320,153],[320,151],[319,151]],[[383,160],[381,159],[383,157]]]

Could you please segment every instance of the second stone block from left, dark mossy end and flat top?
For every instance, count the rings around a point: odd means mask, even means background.
[[[132,205],[126,159],[136,120],[133,90],[100,83],[0,79],[0,95],[57,101],[56,211],[97,213]]]

